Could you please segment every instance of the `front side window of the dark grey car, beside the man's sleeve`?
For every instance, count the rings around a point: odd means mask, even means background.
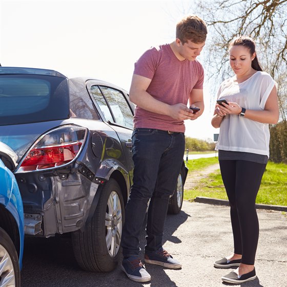
[[[133,114],[124,94],[110,87],[100,86],[100,89],[109,103],[115,122],[133,129]]]

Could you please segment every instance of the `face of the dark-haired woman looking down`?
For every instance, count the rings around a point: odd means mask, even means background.
[[[237,45],[230,48],[229,55],[230,66],[237,76],[244,76],[251,72],[251,63],[255,58],[255,52],[251,55],[248,48]]]

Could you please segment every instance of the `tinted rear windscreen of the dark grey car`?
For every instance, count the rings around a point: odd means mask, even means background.
[[[0,125],[69,117],[67,79],[46,75],[1,75]]]

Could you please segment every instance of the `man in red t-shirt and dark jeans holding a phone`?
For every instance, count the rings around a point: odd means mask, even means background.
[[[185,152],[183,120],[204,109],[203,68],[196,60],[207,35],[198,16],[183,18],[171,44],[152,47],[135,63],[130,100],[136,104],[132,136],[134,177],[122,232],[122,270],[134,281],[151,280],[139,259],[139,236],[149,203],[145,262],[178,269],[181,264],[162,248],[169,198]],[[198,107],[193,112],[187,107]]]

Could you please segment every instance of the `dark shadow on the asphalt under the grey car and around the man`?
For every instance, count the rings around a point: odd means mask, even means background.
[[[168,215],[165,225],[163,243],[181,243],[174,236],[177,228],[187,220],[189,215],[181,211],[178,215]],[[141,234],[141,257],[144,256],[146,232]],[[177,248],[174,247],[173,250]],[[165,269],[157,265],[147,265],[147,270],[153,280],[150,286],[176,287],[166,274]],[[90,287],[90,286],[146,286],[129,280],[119,266],[109,273],[92,273],[81,270],[73,255],[69,236],[52,238],[25,238],[23,269],[21,272],[22,287]]]

